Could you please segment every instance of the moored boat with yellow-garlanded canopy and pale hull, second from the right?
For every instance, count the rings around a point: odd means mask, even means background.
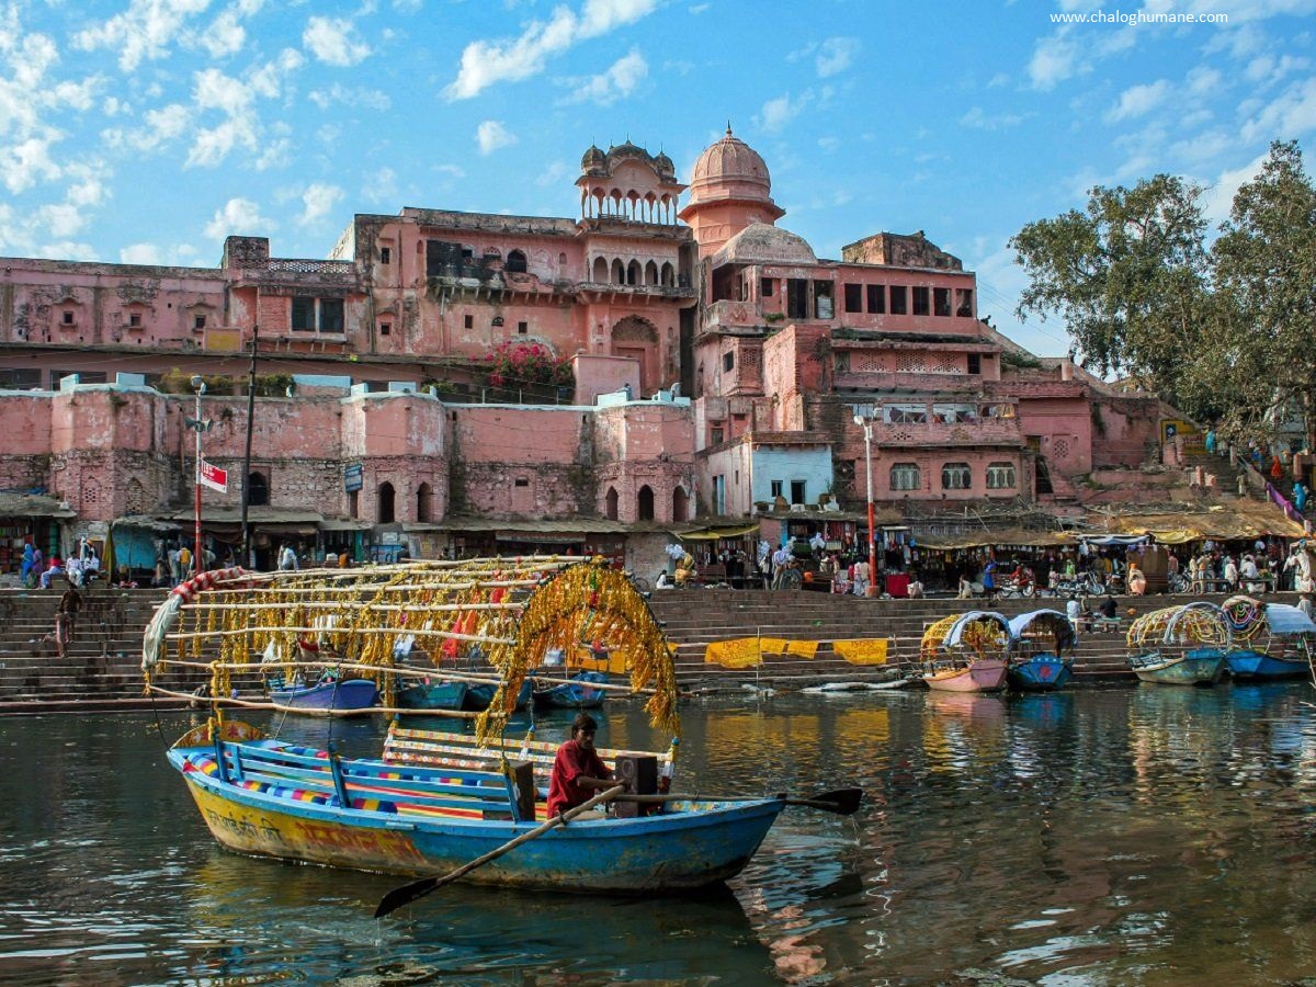
[[[1213,603],[1195,601],[1144,613],[1128,633],[1129,667],[1142,682],[1213,686],[1228,665],[1229,625]]]

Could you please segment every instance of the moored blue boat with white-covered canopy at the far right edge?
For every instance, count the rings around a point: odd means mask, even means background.
[[[1269,682],[1313,674],[1316,622],[1298,607],[1233,596],[1221,611],[1230,632],[1225,662],[1234,679]]]

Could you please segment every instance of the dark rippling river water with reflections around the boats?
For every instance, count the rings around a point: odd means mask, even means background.
[[[1305,683],[695,701],[678,788],[859,784],[863,808],[787,809],[722,894],[454,884],[384,921],[395,878],[218,849],[164,761],[195,717],[11,717],[0,982],[1316,983],[1313,701]],[[361,754],[384,724],[332,729]],[[599,737],[666,742],[624,705]]]

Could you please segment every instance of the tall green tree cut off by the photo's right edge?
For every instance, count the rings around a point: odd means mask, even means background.
[[[1228,397],[1230,434],[1273,434],[1292,413],[1316,445],[1316,188],[1296,141],[1275,141],[1212,246],[1217,315],[1199,387]]]

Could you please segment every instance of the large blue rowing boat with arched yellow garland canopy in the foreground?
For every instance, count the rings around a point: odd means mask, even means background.
[[[265,737],[228,720],[234,670],[259,665],[274,644],[316,634],[362,678],[392,688],[395,645],[411,636],[438,657],[478,642],[497,670],[474,737],[393,740],[380,759],[345,758]],[[840,799],[700,799],[653,794],[661,755],[607,751],[630,779],[615,816],[545,829],[534,771],[540,747],[504,737],[521,683],[550,649],[604,640],[617,675],[646,696],[655,729],[679,734],[672,649],[629,579],[579,558],[471,559],[351,570],[204,574],[161,605],[146,633],[147,688],[174,662],[211,662],[211,720],[168,758],[211,833],[242,853],[401,875],[433,875],[492,853],[468,879],[566,891],[647,892],[700,887],[745,866],[787,804],[849,815]],[[172,654],[170,654],[172,649]],[[429,674],[436,674],[434,669]],[[670,763],[672,751],[667,754]],[[524,757],[522,757],[524,755]],[[646,763],[647,762],[647,763]],[[604,796],[599,796],[604,797]],[[561,821],[561,817],[558,817]],[[512,842],[509,842],[512,841]],[[517,845],[516,853],[507,850]],[[505,855],[504,855],[505,854]],[[465,871],[463,871],[465,873]]]

